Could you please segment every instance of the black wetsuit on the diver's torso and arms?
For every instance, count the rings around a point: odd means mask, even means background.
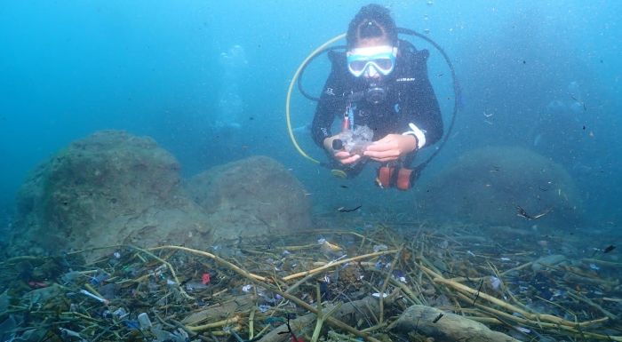
[[[348,106],[355,106],[355,125],[370,127],[374,132],[374,140],[382,139],[390,133],[411,131],[409,123],[414,123],[424,132],[424,147],[441,139],[443,118],[434,89],[427,78],[428,55],[427,50],[418,51],[412,44],[400,40],[395,69],[388,76],[383,76],[387,98],[379,104],[372,104],[364,96],[369,89],[368,81],[363,76],[350,74],[345,52],[329,52],[331,75],[324,84],[311,127],[315,143],[323,147],[323,140],[335,134],[331,132],[331,125],[336,117],[343,118]],[[410,166],[414,155],[413,152],[403,158],[403,167]]]

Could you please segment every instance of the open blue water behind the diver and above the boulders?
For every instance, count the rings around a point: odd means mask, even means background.
[[[426,32],[441,44],[462,85],[464,106],[455,130],[426,177],[475,147],[566,148],[564,137],[584,134],[576,151],[561,150],[554,158],[578,183],[590,225],[619,227],[622,3],[379,3],[392,10],[398,26]],[[316,208],[378,197],[388,206],[408,200],[403,193],[379,193],[370,174],[355,180],[359,193],[334,194],[339,183],[301,158],[285,129],[284,100],[292,74],[315,47],[344,32],[363,4],[3,1],[3,224],[11,219],[15,194],[28,171],[72,140],[102,129],[153,137],[176,155],[186,176],[244,156],[270,155],[303,181]],[[232,74],[222,54],[233,53],[235,45],[242,47],[245,63]],[[309,91],[320,90],[328,68],[323,59],[308,68]],[[444,99],[452,97],[451,84],[437,52],[429,68],[448,122],[452,102]],[[579,104],[574,108],[579,110],[543,123],[542,112],[554,110],[555,100],[562,106]],[[309,123],[314,108],[296,92],[294,125]],[[235,112],[236,127],[220,136],[212,124],[223,110]],[[235,137],[227,138],[227,130]],[[311,155],[324,157],[304,133],[299,139]]]

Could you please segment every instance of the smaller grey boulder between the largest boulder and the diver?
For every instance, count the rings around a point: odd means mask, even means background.
[[[275,236],[311,226],[310,204],[299,180],[267,156],[204,171],[187,189],[218,227],[214,240]]]

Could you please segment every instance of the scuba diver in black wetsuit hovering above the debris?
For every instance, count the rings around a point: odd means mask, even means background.
[[[361,8],[347,29],[347,52],[328,52],[331,74],[311,133],[346,177],[355,177],[372,160],[380,163],[379,187],[408,190],[420,171],[411,163],[421,148],[443,138],[443,118],[427,77],[429,52],[397,34],[387,8]],[[331,132],[335,117],[343,120],[336,134]],[[363,126],[373,138],[362,148],[348,150],[347,131]]]

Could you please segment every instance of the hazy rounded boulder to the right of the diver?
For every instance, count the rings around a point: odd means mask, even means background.
[[[521,147],[470,151],[422,191],[425,201],[419,205],[436,219],[561,228],[578,227],[582,220],[580,199],[568,172]],[[545,215],[536,218],[540,214]]]

